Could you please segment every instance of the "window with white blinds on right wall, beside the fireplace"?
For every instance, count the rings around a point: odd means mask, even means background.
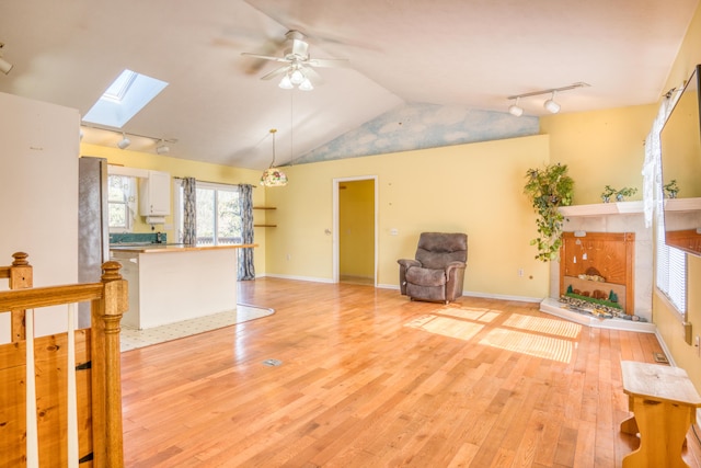
[[[662,210],[660,210],[662,212]],[[677,311],[687,313],[687,254],[665,243],[665,222],[660,213],[657,219],[657,288]]]

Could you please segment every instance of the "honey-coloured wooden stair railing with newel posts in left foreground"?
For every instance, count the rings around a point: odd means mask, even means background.
[[[21,259],[16,259],[15,261]],[[24,258],[26,260],[26,256]],[[18,267],[28,266],[19,264]],[[123,453],[123,440],[122,440],[122,378],[120,378],[120,352],[119,352],[119,322],[123,313],[128,309],[128,284],[126,279],[122,278],[119,274],[120,264],[118,262],[106,262],[103,264],[103,274],[100,283],[89,284],[73,284],[66,286],[49,286],[49,287],[36,287],[13,289],[7,292],[0,292],[0,311],[27,310],[42,307],[62,306],[69,304],[76,304],[81,301],[91,303],[91,328],[78,330],[82,336],[82,347],[89,347],[90,354],[85,356],[88,362],[83,362],[77,366],[78,368],[90,368],[90,379],[78,388],[79,402],[89,401],[89,408],[85,409],[88,414],[85,420],[92,422],[92,429],[90,434],[85,435],[81,433],[79,438],[81,444],[87,438],[88,442],[84,445],[90,445],[92,453],[93,467],[108,467],[108,468],[122,468],[124,466],[124,453]],[[0,277],[10,277],[13,270],[12,267],[0,269]],[[19,271],[22,271],[21,269]],[[9,273],[8,273],[9,272]],[[31,270],[30,270],[31,272]],[[26,273],[26,270],[25,270]],[[28,276],[25,274],[25,278],[31,281],[31,273]],[[11,279],[12,281],[12,279]],[[23,328],[24,329],[24,328]],[[66,333],[64,333],[65,335]],[[41,341],[44,340],[44,341]],[[61,334],[41,336],[35,342],[35,350],[43,353],[47,353],[46,350],[57,354],[60,343]],[[42,343],[42,344],[37,344]],[[90,344],[88,346],[88,343]],[[13,369],[18,369],[23,366],[24,340],[19,340],[9,344],[0,345],[0,376],[2,372],[15,373]],[[87,349],[84,350],[87,354]],[[65,351],[60,351],[65,353]],[[56,356],[51,356],[56,361]],[[20,362],[22,361],[22,362]],[[26,365],[24,363],[24,365]],[[49,366],[46,366],[49,367]],[[65,363],[60,364],[60,367],[65,367]],[[59,375],[57,377],[45,376],[42,377],[42,385],[45,385],[48,380],[65,379],[65,375],[60,376],[61,369],[58,367],[54,369]],[[65,374],[65,370],[62,372]],[[55,384],[55,383],[54,383]],[[5,408],[4,424],[0,427],[0,466],[5,466],[3,463],[10,461],[5,457],[22,457],[22,454],[16,454],[18,450],[22,450],[23,447],[16,445],[18,437],[22,440],[25,433],[25,414],[23,413],[25,408],[25,397],[18,396],[22,392],[24,385],[22,381],[7,378],[0,380],[0,385],[5,386],[2,388],[2,395],[10,398],[9,401],[15,401],[12,408]],[[37,386],[37,397],[41,392],[46,392],[45,398],[56,398],[53,392],[64,392],[65,390],[56,390],[49,385],[45,385],[47,388],[41,388]],[[14,392],[14,393],[13,393]],[[22,401],[20,401],[21,399]],[[20,410],[22,414],[20,414]],[[38,411],[38,415],[42,416],[42,410]],[[79,409],[80,412],[80,409]],[[42,416],[44,418],[44,416]],[[57,416],[54,416],[57,418]],[[48,416],[45,419],[49,419]],[[57,424],[56,422],[41,421],[41,424]],[[14,432],[11,432],[14,431]],[[45,441],[42,435],[49,433],[50,437]],[[51,427],[49,430],[39,429],[39,460],[49,460],[46,466],[62,466],[64,460],[57,460],[56,447],[62,444],[65,440],[65,429],[58,429],[55,431]],[[14,442],[11,442],[14,441]],[[47,442],[45,444],[45,442]],[[3,445],[8,444],[8,446]],[[15,444],[15,445],[10,445]],[[8,450],[8,448],[12,450]],[[64,457],[66,450],[62,449]],[[15,452],[10,454],[8,452]],[[56,465],[55,465],[56,463]],[[42,463],[42,466],[45,464]],[[12,465],[7,465],[12,466]]]

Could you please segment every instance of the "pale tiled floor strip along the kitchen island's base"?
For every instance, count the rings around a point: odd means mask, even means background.
[[[239,304],[235,310],[227,310],[211,316],[183,320],[182,322],[153,327],[146,330],[136,330],[123,324],[119,347],[122,352],[136,350],[138,347],[150,346],[151,344],[163,343],[165,341],[268,317],[273,313],[275,313],[274,309]]]

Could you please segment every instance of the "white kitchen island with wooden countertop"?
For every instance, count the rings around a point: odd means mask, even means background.
[[[112,260],[128,281],[129,310],[122,323],[138,330],[237,308],[235,246],[113,244]]]

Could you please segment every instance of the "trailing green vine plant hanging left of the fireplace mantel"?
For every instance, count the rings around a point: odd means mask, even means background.
[[[530,244],[536,246],[536,259],[548,262],[556,260],[562,246],[562,225],[564,216],[561,206],[572,205],[574,180],[567,175],[567,164],[549,164],[542,169],[529,169],[526,172],[524,193],[530,198],[538,214],[536,226],[538,237]]]

